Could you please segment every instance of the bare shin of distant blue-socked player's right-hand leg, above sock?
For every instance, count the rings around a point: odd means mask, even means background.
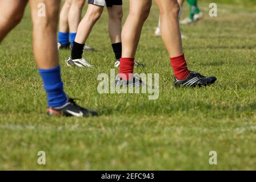
[[[85,0],[72,0],[69,9],[69,31],[77,32],[77,27],[81,20],[81,14]]]

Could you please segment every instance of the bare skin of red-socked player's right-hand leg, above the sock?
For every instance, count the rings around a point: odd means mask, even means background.
[[[170,57],[183,54],[179,28],[179,4],[176,0],[155,0],[161,14],[161,32]]]

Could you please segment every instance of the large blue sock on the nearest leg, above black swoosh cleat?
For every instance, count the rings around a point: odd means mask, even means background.
[[[59,65],[51,69],[38,69],[43,86],[47,93],[47,101],[49,107],[59,107],[66,104],[67,97],[63,90],[63,82],[61,80],[61,67]]]

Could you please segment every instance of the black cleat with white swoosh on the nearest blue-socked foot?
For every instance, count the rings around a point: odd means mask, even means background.
[[[67,98],[67,103],[61,107],[49,107],[46,110],[47,115],[58,115],[66,117],[89,117],[97,116],[98,113],[94,110],[85,109],[77,105],[73,98]]]

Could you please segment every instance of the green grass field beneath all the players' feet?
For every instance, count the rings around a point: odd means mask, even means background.
[[[219,4],[210,18],[208,5],[201,3],[205,19],[182,26],[190,69],[218,77],[208,88],[174,88],[166,49],[153,36],[155,5],[136,56],[146,68],[135,72],[159,73],[158,100],[97,92],[98,74],[114,67],[106,11],[87,42],[97,51],[84,54],[94,69],[67,68],[70,52],[60,52],[67,94],[98,110],[97,118],[45,115],[27,9],[0,46],[0,169],[256,169],[255,9]],[[183,10],[184,18],[188,6]],[[45,166],[37,164],[41,150]],[[217,165],[209,164],[210,151]]]

